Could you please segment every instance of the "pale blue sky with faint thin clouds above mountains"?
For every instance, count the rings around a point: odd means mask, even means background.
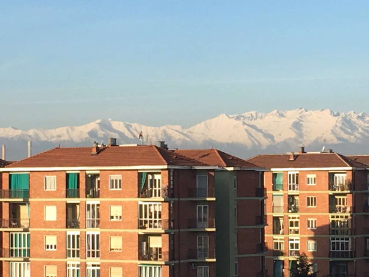
[[[369,112],[369,1],[0,3],[0,127]]]

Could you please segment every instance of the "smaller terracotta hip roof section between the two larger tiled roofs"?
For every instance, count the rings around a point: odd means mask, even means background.
[[[175,153],[184,155],[204,164],[220,167],[258,167],[249,161],[242,160],[217,149],[189,149],[174,150]]]

